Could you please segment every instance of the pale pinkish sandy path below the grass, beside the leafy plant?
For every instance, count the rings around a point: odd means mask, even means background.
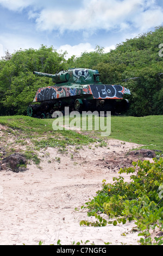
[[[30,164],[26,172],[2,170],[0,244],[37,245],[41,240],[43,245],[56,245],[61,240],[61,245],[71,245],[90,240],[95,245],[136,245],[140,237],[130,233],[133,223],[100,228],[79,225],[93,218],[80,207],[96,196],[103,179],[112,182],[120,167],[131,165],[135,159],[126,153],[136,147],[110,139],[108,147],[70,147],[64,155],[48,148],[40,152],[41,168]]]

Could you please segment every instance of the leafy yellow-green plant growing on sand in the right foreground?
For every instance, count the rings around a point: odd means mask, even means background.
[[[162,244],[162,237],[152,241],[149,229],[163,229],[163,158],[149,161],[133,162],[133,167],[121,168],[120,174],[130,174],[130,182],[124,182],[119,176],[114,178],[114,184],[106,184],[103,180],[102,190],[97,196],[82,208],[89,209],[88,216],[95,216],[96,222],[81,221],[80,225],[103,226],[107,223],[117,225],[127,221],[135,221],[137,229],[141,230],[141,244]],[[109,216],[106,221],[98,215],[99,212]],[[112,219],[114,218],[114,221]]]

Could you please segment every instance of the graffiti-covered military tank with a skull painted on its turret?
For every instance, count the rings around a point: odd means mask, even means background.
[[[130,90],[120,84],[103,84],[99,81],[98,70],[74,68],[60,71],[58,74],[33,72],[36,76],[50,77],[54,86],[39,88],[28,106],[30,117],[51,118],[55,111],[64,114],[65,107],[70,111],[126,111],[129,101],[124,95]]]

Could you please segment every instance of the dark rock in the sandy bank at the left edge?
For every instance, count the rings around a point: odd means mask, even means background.
[[[12,154],[2,160],[1,168],[4,170],[11,169],[13,172],[23,172],[26,168],[26,157],[19,153]]]

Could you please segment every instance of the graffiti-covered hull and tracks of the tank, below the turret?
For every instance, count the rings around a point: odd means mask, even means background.
[[[51,118],[57,110],[70,111],[111,111],[121,113],[128,108],[128,100],[123,96],[130,94],[127,88],[109,84],[68,84],[39,88],[34,105],[28,107],[28,115],[37,118]]]

